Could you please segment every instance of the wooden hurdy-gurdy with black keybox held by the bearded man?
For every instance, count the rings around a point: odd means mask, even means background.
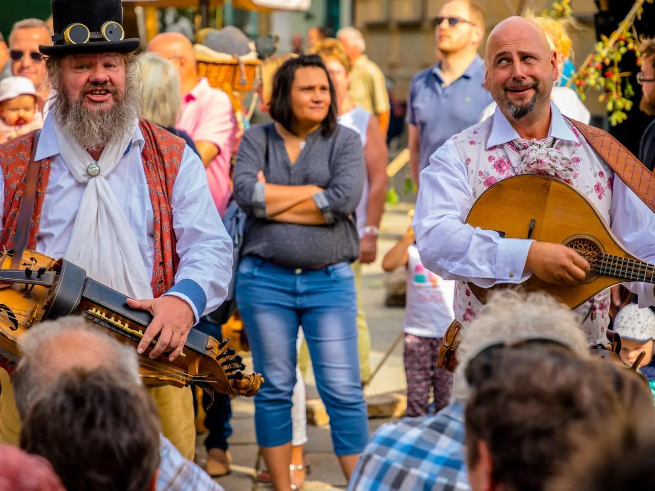
[[[136,345],[152,321],[144,310],[130,308],[127,297],[86,276],[83,268],[65,259],[55,260],[25,250],[18,268],[12,251],[0,254],[0,366],[9,371],[20,359],[20,336],[40,321],[79,314],[121,342]],[[242,359],[219,342],[191,329],[181,354],[169,361],[166,354],[149,359],[151,347],[139,356],[145,386],[191,382],[209,393],[214,391],[252,397],[263,383],[258,373],[244,374]]]

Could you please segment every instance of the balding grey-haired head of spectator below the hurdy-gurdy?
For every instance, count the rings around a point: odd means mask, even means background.
[[[14,374],[14,397],[22,418],[31,403],[70,369],[106,369],[141,384],[136,347],[132,348],[79,317],[64,317],[31,327],[20,336],[22,359]]]

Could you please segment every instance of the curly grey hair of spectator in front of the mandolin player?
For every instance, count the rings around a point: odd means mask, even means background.
[[[581,358],[589,357],[589,344],[580,328],[580,316],[546,293],[493,293],[475,319],[460,331],[453,398],[466,401],[470,388],[466,367],[490,346],[512,346],[528,340],[552,340]]]

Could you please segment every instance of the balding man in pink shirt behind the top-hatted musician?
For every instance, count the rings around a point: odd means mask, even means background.
[[[180,33],[162,33],[153,38],[148,51],[176,65],[181,86],[182,110],[176,128],[191,136],[207,171],[212,198],[223,215],[230,199],[230,158],[236,124],[230,98],[198,78],[191,41]]]

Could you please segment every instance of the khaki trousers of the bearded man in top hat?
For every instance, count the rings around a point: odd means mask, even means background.
[[[14,402],[9,374],[0,369],[0,443],[18,445],[20,418]],[[162,386],[148,389],[155,399],[162,433],[187,459],[193,460],[196,448],[196,430],[193,424],[193,398],[191,388],[178,389]]]

